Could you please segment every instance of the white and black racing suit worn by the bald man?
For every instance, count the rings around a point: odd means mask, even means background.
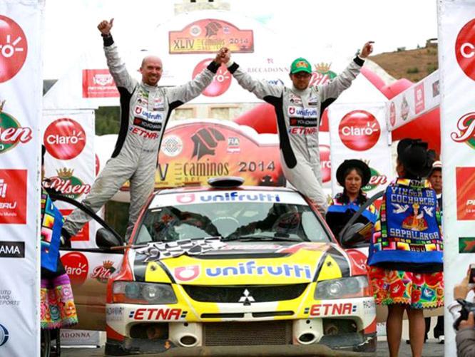
[[[200,95],[213,81],[220,65],[211,62],[193,81],[183,86],[160,88],[138,83],[130,76],[111,36],[104,38],[104,52],[121,97],[121,128],[112,157],[96,178],[83,205],[97,212],[130,180],[128,239],[138,214],[153,192],[158,150],[171,111]],[[63,228],[72,237],[89,219],[87,214],[76,209]]]

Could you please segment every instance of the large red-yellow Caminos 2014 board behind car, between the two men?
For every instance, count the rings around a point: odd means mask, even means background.
[[[239,176],[245,185],[282,186],[277,139],[260,143],[256,138],[229,125],[176,125],[163,137],[155,187],[206,185],[208,178],[218,176]]]

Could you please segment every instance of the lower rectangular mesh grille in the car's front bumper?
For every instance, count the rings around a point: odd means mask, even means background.
[[[287,345],[292,321],[205,323],[203,341],[204,346]]]

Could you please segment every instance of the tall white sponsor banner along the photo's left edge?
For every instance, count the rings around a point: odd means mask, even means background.
[[[39,356],[43,10],[0,0],[0,356]]]

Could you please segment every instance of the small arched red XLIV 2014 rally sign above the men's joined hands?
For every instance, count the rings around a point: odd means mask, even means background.
[[[168,51],[172,54],[215,53],[221,47],[228,47],[234,53],[254,52],[252,30],[240,30],[218,19],[192,22],[181,31],[170,31],[168,36]]]

